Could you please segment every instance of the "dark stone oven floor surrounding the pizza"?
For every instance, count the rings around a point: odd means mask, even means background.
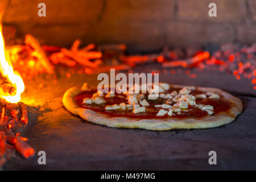
[[[213,129],[147,131],[115,129],[86,122],[65,110],[62,96],[71,86],[97,76],[60,73],[57,81],[40,76],[26,81],[23,101],[38,114],[23,131],[36,151],[46,151],[47,164],[38,157],[10,159],[4,169],[256,169],[256,90],[250,80],[204,71],[196,78],[185,73],[160,75],[160,81],[174,84],[212,86],[224,89],[243,102],[243,113],[236,121]],[[40,88],[40,85],[43,88]],[[217,152],[217,165],[209,165],[209,151]]]

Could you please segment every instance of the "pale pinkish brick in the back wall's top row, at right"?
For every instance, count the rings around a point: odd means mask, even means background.
[[[209,3],[217,5],[217,16],[208,15]],[[210,20],[214,22],[241,22],[246,18],[245,0],[182,0],[178,1],[179,19]]]

